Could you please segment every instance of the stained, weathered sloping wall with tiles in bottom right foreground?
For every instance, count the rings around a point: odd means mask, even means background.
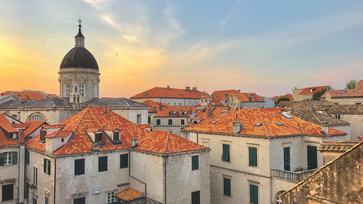
[[[363,145],[362,141],[352,142],[324,144],[329,149],[343,150],[338,151],[335,155],[340,154],[339,156],[327,162],[309,178],[282,193],[282,203],[363,203],[363,171],[360,168],[363,165]],[[323,154],[324,158],[329,154],[328,158],[331,160],[334,156],[329,149],[323,151]]]

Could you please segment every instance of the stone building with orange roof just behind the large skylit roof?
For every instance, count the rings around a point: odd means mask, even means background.
[[[235,110],[242,108],[264,108],[265,101],[256,93],[231,93],[228,95],[228,107]]]

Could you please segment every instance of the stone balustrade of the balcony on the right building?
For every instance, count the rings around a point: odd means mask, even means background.
[[[302,180],[306,179],[310,174],[313,174],[316,169],[311,169],[307,171],[284,171],[278,169],[271,169],[271,176],[279,179],[288,180],[291,182],[299,183]]]

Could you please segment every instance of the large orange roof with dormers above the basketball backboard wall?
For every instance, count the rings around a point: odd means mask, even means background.
[[[105,111],[107,114],[104,114]],[[87,107],[60,124],[65,125],[62,131],[73,130],[75,133],[69,143],[52,153],[54,155],[90,153],[92,141],[85,132],[86,128],[102,129],[104,126],[108,126],[121,129],[120,140],[123,145],[112,145],[106,140],[106,146],[99,147],[99,151],[130,148],[132,138],[141,139],[149,132],[105,107]],[[45,143],[39,144],[39,139],[38,135],[26,141],[26,144],[29,148],[45,151]]]

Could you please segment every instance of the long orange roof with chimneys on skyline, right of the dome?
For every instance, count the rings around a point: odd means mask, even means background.
[[[145,92],[147,95],[145,96]],[[135,96],[131,96],[130,99],[137,98],[187,98],[187,99],[200,99],[201,95],[205,94],[202,91],[187,91],[185,89],[180,88],[163,88],[163,87],[154,87],[142,93],[136,94]]]

